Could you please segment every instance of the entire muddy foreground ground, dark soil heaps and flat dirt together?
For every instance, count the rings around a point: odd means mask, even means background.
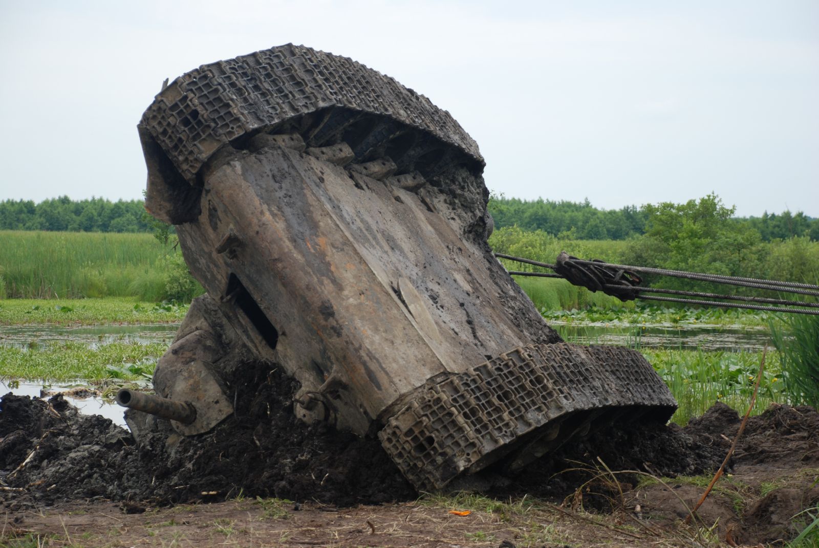
[[[415,502],[419,494],[378,442],[296,423],[293,386],[276,372],[260,368],[245,383],[256,396],[239,401],[236,416],[173,450],[161,433],[137,445],[61,396],[4,396],[0,543],[647,546],[641,541],[654,538],[686,546],[705,535],[755,546],[793,538],[793,516],[819,502],[819,414],[808,407],[750,419],[730,475],[694,525],[680,528],[739,428],[726,405],[686,428],[609,428],[513,478],[489,470],[472,486],[509,501],[493,506],[463,496]],[[277,502],[284,499],[298,504]],[[447,514],[453,505],[473,512]]]

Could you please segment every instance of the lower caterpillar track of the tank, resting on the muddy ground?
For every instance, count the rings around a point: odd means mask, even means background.
[[[527,345],[419,387],[378,437],[415,487],[434,490],[500,457],[514,461],[516,450],[526,464],[592,426],[642,414],[665,422],[674,410],[671,392],[637,351]]]

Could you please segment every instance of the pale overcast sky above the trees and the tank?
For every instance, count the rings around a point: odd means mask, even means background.
[[[450,111],[507,197],[819,216],[817,0],[0,0],[0,199],[141,197],[162,81],[288,42]]]

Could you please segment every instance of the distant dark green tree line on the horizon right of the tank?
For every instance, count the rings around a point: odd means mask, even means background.
[[[711,195],[717,198],[716,195]],[[688,202],[690,204],[696,201]],[[641,236],[651,231],[652,220],[658,211],[674,211],[675,207],[686,208],[686,204],[646,204],[625,206],[618,210],[604,210],[592,206],[588,199],[584,202],[552,200],[527,201],[492,196],[489,212],[495,220],[496,228],[518,226],[528,231],[541,230],[552,236],[581,240],[625,240]],[[802,211],[791,213],[768,213],[761,217],[735,217],[734,210],[727,222],[737,225],[737,229],[753,229],[763,242],[807,236],[819,241],[819,219],[812,219]],[[679,213],[679,211],[677,212]]]

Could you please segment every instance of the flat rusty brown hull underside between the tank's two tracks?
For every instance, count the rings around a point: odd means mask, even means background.
[[[266,147],[212,170],[203,214],[178,231],[192,272],[299,380],[298,399],[364,435],[430,378],[558,340],[452,209],[434,188]]]

